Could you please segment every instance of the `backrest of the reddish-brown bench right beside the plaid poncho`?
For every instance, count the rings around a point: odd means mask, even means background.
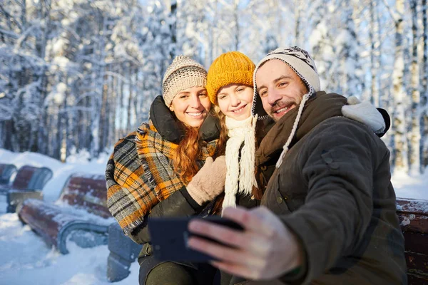
[[[106,179],[103,175],[71,175],[58,200],[101,217],[111,217],[107,208]]]

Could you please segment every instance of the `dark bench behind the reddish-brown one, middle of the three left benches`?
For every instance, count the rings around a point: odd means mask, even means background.
[[[14,183],[6,192],[6,212],[15,212],[16,205],[25,199],[43,199],[43,187],[53,173],[47,167],[25,165],[16,173]]]

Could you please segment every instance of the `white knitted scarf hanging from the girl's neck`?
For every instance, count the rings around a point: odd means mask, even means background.
[[[255,124],[257,116],[245,120],[226,117],[228,142],[226,142],[225,207],[236,207],[236,194],[252,195],[255,180]],[[243,145],[244,144],[244,145]],[[243,145],[242,150],[240,147]],[[240,154],[240,157],[239,157]],[[239,181],[239,187],[238,187]]]

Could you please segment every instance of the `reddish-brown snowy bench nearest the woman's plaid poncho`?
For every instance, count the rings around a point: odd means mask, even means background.
[[[54,203],[26,199],[18,205],[19,219],[29,224],[49,245],[67,254],[67,242],[95,247],[108,242],[112,219],[106,207],[106,180],[103,175],[74,174],[68,178]]]

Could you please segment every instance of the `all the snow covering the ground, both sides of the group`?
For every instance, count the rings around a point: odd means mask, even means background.
[[[32,152],[16,154],[0,149],[0,163],[51,168],[54,177],[44,187],[49,201],[57,199],[68,175],[74,172],[103,174],[108,156],[88,162],[86,152],[75,154],[66,163]],[[428,199],[428,169],[424,175],[396,173],[392,183],[397,197]],[[68,244],[69,254],[59,254],[23,225],[17,214],[6,214],[6,197],[0,195],[0,284],[107,285],[108,248],[106,245],[82,249]],[[131,264],[131,274],[113,284],[138,284],[138,263]]]

